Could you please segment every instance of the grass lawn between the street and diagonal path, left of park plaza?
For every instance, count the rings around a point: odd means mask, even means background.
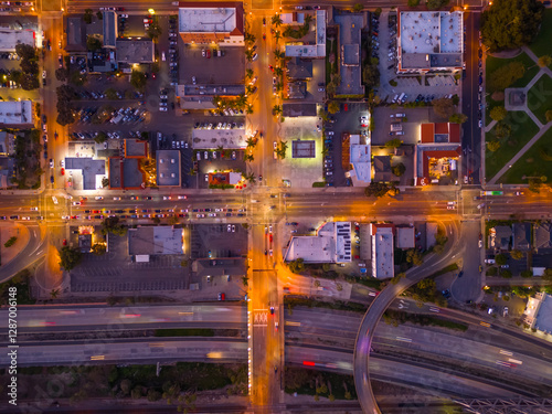
[[[505,123],[512,128],[510,138],[502,139],[498,151],[486,151],[485,156],[485,174],[487,180],[492,179],[512,157],[520,151],[521,148],[539,131],[539,127],[527,115],[524,110],[509,112]],[[495,138],[496,126],[486,134],[486,141]],[[512,167],[513,169],[513,167]]]

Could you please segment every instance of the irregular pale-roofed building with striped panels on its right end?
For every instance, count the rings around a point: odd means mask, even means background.
[[[351,223],[323,223],[316,236],[293,236],[284,259],[291,262],[297,258],[305,263],[351,262]]]

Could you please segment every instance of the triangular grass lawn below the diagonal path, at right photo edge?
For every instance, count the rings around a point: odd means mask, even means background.
[[[552,179],[552,161],[546,161],[544,155],[551,155],[552,150],[552,128],[546,132],[527,151],[521,159],[516,162],[506,174],[500,177],[499,182],[502,183],[522,183],[527,184],[528,180],[522,180],[523,176],[527,177],[541,177],[546,176],[549,181]]]

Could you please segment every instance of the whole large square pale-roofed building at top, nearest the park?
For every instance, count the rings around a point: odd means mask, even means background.
[[[461,71],[461,11],[399,11],[397,28],[399,73]]]

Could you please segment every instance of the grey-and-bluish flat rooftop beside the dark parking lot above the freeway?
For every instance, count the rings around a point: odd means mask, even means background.
[[[129,255],[182,254],[182,229],[140,226],[128,229]]]

